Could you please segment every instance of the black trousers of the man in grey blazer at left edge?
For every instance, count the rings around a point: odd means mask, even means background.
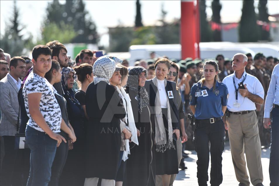
[[[2,137],[4,138],[5,155],[1,167],[1,185],[11,185],[16,158],[15,136]]]

